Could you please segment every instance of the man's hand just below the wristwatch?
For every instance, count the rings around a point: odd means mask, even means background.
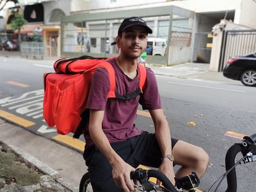
[[[163,158],[163,162],[158,168],[158,170],[160,170],[160,172],[163,172],[164,175],[166,175],[166,177],[168,177],[171,183],[173,183],[173,185],[175,186],[175,180],[174,180],[175,173],[173,169],[173,161],[170,161],[167,158]],[[160,185],[159,180],[157,181],[157,184]]]

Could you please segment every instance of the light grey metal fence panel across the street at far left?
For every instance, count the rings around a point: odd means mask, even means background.
[[[20,51],[24,57],[43,57],[45,56],[45,46],[43,42],[22,42]]]

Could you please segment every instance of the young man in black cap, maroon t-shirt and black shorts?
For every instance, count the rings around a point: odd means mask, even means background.
[[[132,93],[139,86],[138,58],[147,46],[148,33],[152,30],[138,17],[124,19],[119,27],[116,44],[120,54],[109,61],[115,71],[118,94]],[[176,177],[192,171],[197,172],[198,177],[205,173],[207,153],[192,144],[171,139],[152,70],[147,68],[143,94],[134,99],[108,99],[108,91],[108,72],[99,68],[95,70],[88,96],[90,120],[85,130],[84,158],[93,191],[135,191],[130,172],[139,164],[159,167],[173,184],[174,164],[181,165]],[[135,126],[139,104],[150,112],[154,134]]]

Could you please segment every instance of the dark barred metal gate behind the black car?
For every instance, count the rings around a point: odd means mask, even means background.
[[[256,51],[256,30],[223,31],[218,71],[223,71],[229,57]]]

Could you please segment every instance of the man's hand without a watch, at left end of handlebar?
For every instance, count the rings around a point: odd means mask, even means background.
[[[112,175],[116,186],[122,188],[124,192],[135,191],[132,180],[130,180],[130,172],[135,171],[134,167],[122,161],[114,164]]]

